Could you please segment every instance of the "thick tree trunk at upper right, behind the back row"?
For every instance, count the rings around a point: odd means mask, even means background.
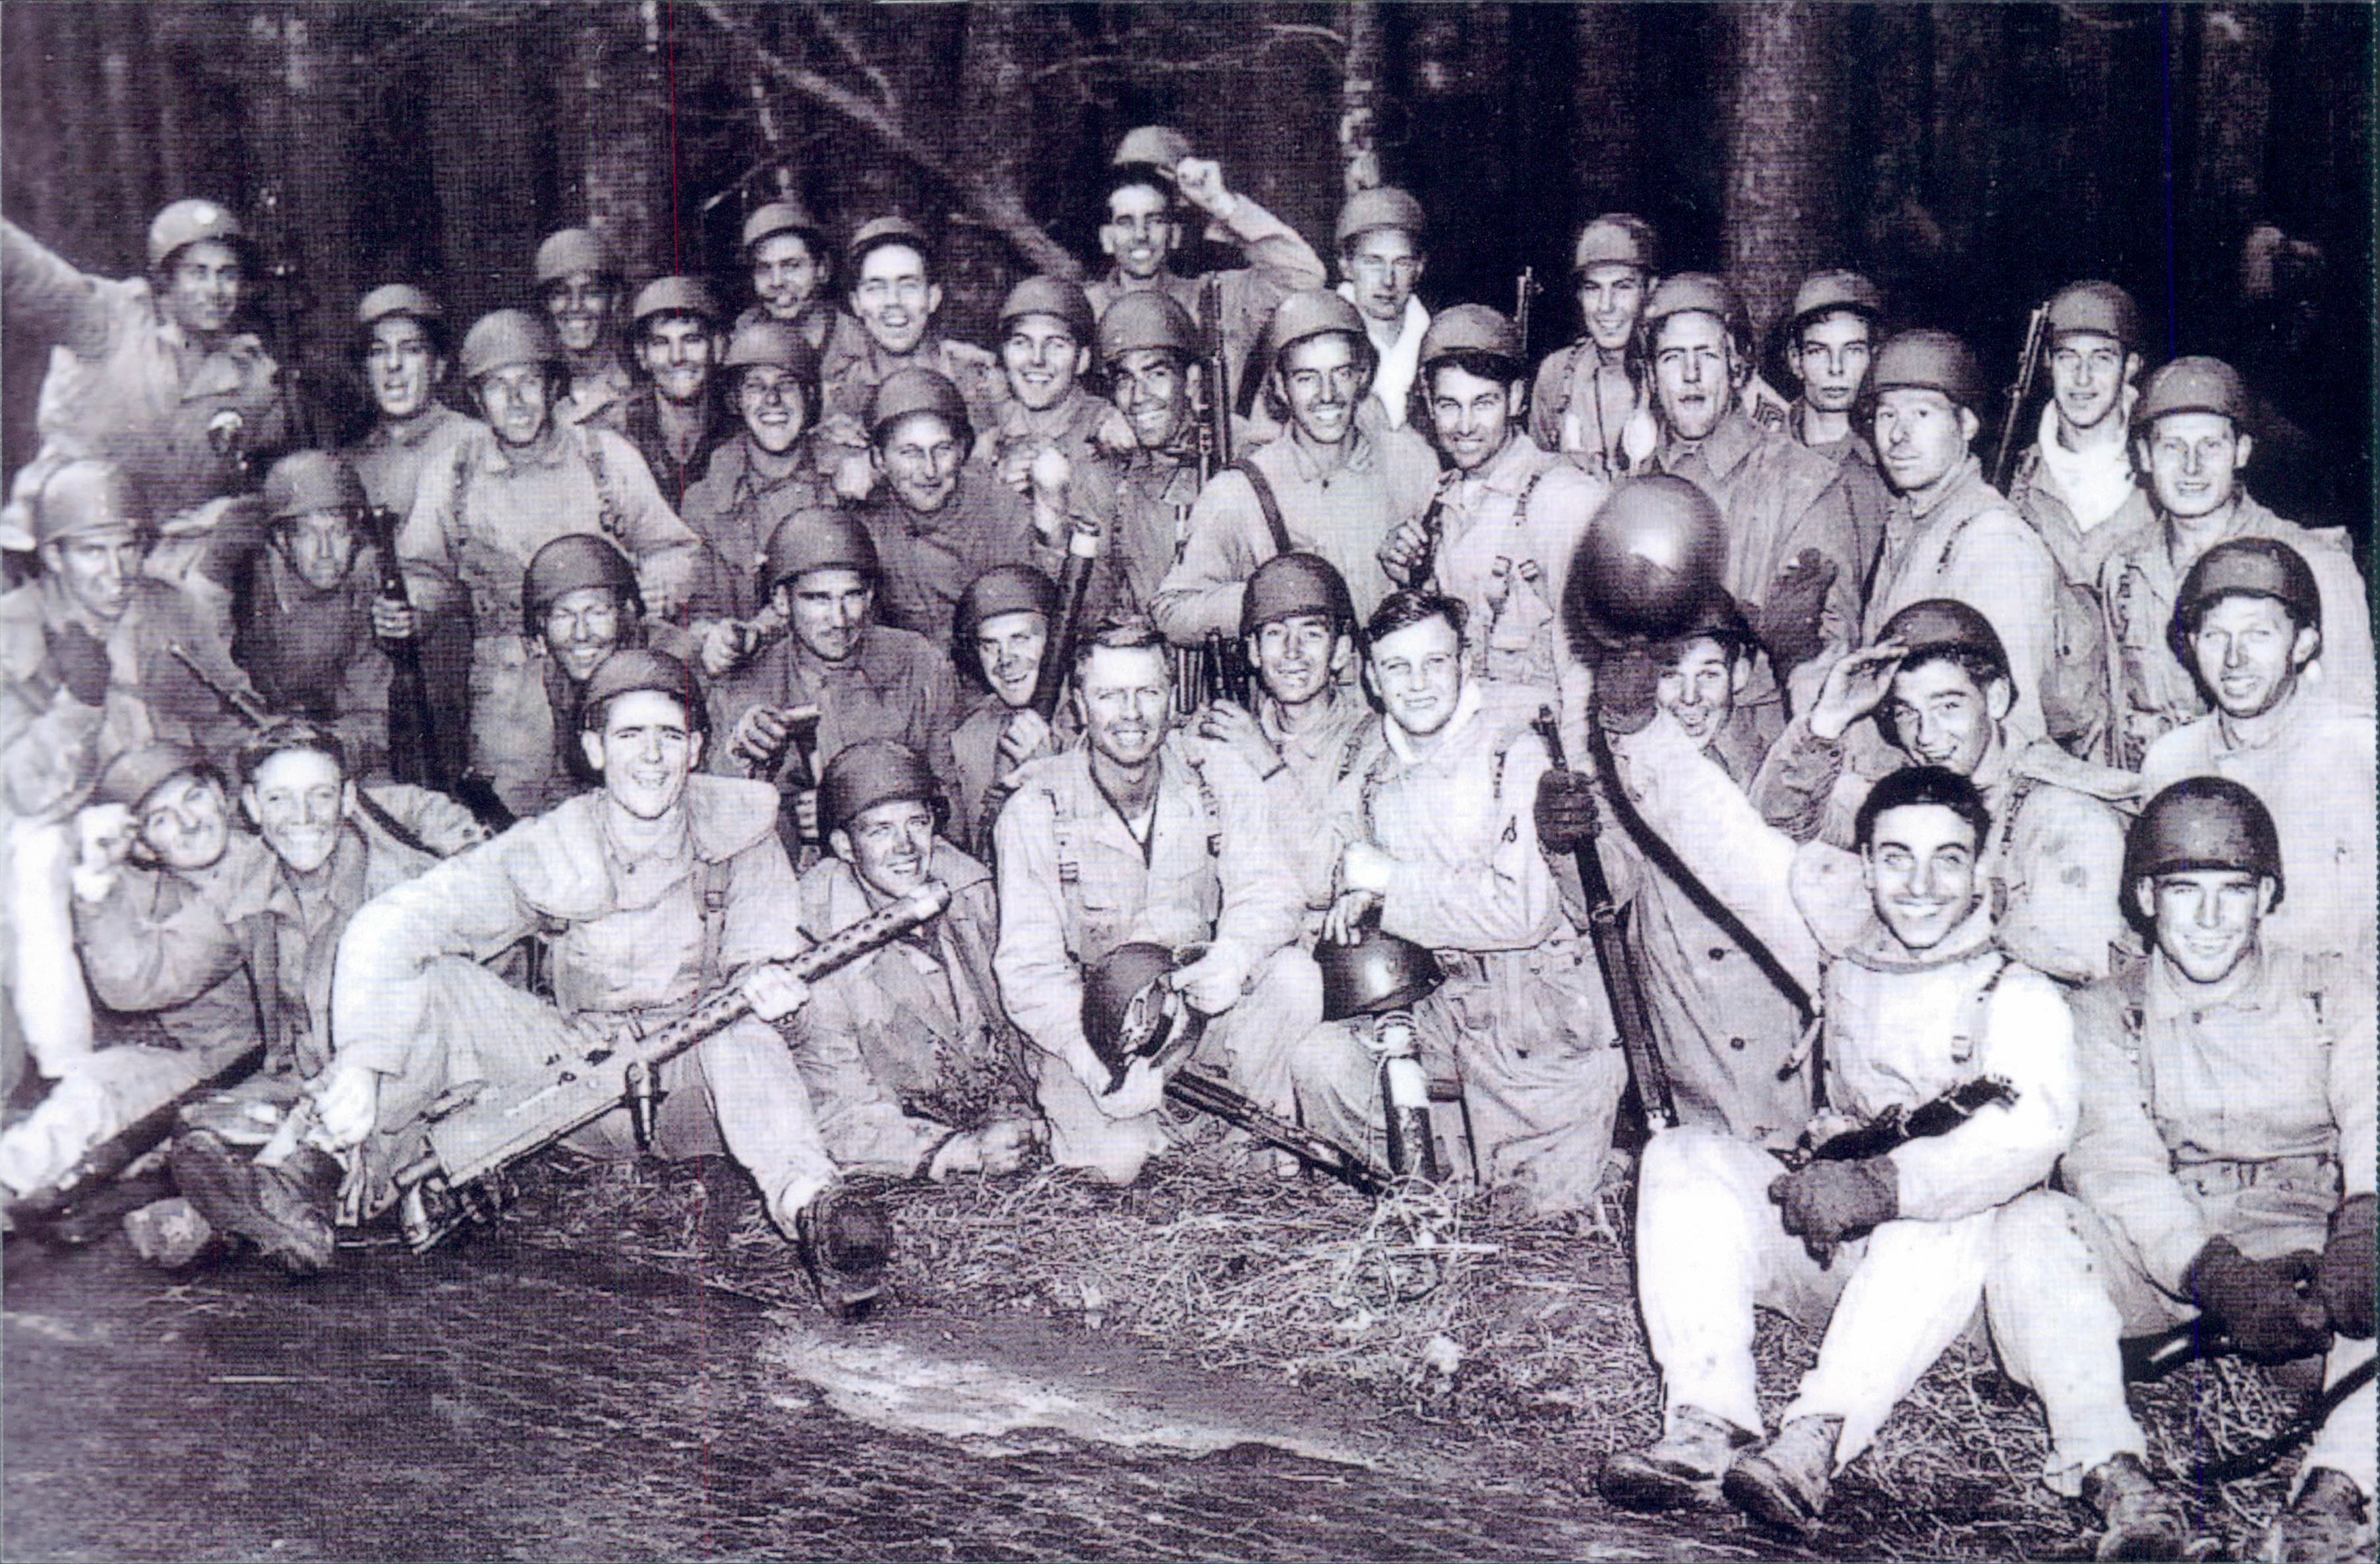
[[[1806,271],[1842,255],[1835,176],[1840,105],[1828,5],[1785,0],[1728,10],[1728,276],[1766,329]]]

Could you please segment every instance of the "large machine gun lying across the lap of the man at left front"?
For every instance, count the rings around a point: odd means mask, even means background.
[[[933,921],[945,907],[950,907],[947,886],[919,886],[778,966],[814,983]],[[545,1083],[486,1093],[433,1116],[426,1126],[428,1155],[397,1169],[395,1176],[407,1247],[419,1255],[452,1233],[471,1209],[493,1209],[500,1202],[497,1181],[505,1169],[614,1107],[628,1107],[638,1145],[650,1147],[654,1109],[662,1102],[654,1088],[659,1066],[747,1014],[752,1002],[743,997],[743,988],[721,988],[650,1036],[631,1026],[624,1036],[574,1043]]]

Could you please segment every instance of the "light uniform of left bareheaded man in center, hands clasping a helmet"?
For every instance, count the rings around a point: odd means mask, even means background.
[[[1083,1038],[1083,974],[1119,945],[1207,945],[1250,974],[1195,1055],[1273,1112],[1290,1112],[1292,1047],[1321,1016],[1321,974],[1297,936],[1299,895],[1264,786],[1230,752],[1173,733],[1157,755],[1147,836],[1092,778],[1090,750],[1016,769],[1000,812],[1000,947],[1009,1016],[1038,1047],[1038,1102],[1059,1166],[1130,1183],[1169,1143],[1164,1114],[1109,1119],[1107,1066]]]

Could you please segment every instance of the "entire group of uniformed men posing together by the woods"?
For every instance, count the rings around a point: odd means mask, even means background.
[[[131,281],[0,221],[55,345],[0,598],[10,1197],[178,1100],[186,1252],[321,1269],[433,1124],[721,993],[657,1124],[569,1143],[724,1152],[840,1307],[869,1176],[1130,1183],[1185,1074],[1399,1171],[1454,1126],[1423,1164],[1530,1214],[1642,1119],[1664,1428],[1611,1502],[1809,1531],[1980,1316],[2099,1557],[2180,1557],[2118,1345],[2194,1319],[2337,1388],[2268,1557],[2368,1557],[2373,638],[2342,538],[2244,490],[2242,379],[2061,288],[2002,493],[1975,355],[1852,271],[1787,398],[1637,217],[1533,367],[1423,307],[1404,190],[1335,288],[1178,131],[1104,209],[995,350],[921,229],[793,200],[740,312],[588,229],[459,336],[386,283],[338,450],[228,209]],[[1176,274],[1195,224],[1242,264]],[[1759,1307],[1825,1326],[1773,1433]]]

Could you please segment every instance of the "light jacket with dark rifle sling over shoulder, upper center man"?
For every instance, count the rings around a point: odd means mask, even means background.
[[[1338,455],[1338,452],[1330,452]],[[1409,428],[1347,431],[1345,462],[1328,467],[1299,433],[1259,445],[1254,464],[1280,505],[1290,550],[1328,559],[1347,581],[1357,621],[1388,595],[1380,545],[1404,521],[1418,521],[1438,488],[1438,459]],[[1190,507],[1180,564],[1166,571],[1150,605],[1157,628],[1173,645],[1197,645],[1207,631],[1235,636],[1240,590],[1250,574],[1283,550],[1247,474],[1214,474]]]

